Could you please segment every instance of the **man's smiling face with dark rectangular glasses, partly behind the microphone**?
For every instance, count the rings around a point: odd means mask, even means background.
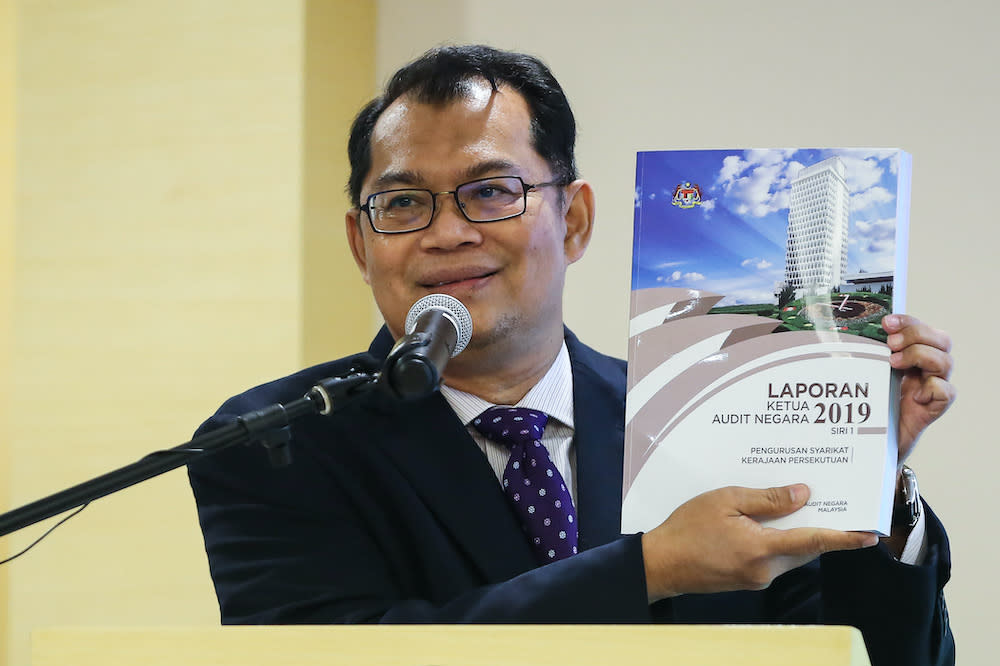
[[[520,176],[528,184],[552,179],[532,147],[524,98],[479,81],[467,91],[445,106],[404,96],[385,110],[372,132],[362,201],[382,190],[441,192],[490,176]],[[499,340],[561,339],[566,266],[582,256],[590,235],[592,206],[581,214],[573,203],[581,188],[592,203],[582,181],[542,187],[528,192],[524,215],[487,223],[469,222],[453,196],[442,194],[430,227],[398,235],[378,234],[365,213],[349,212],[351,248],[392,335],[403,334],[415,301],[444,293],[472,314],[470,350]]]

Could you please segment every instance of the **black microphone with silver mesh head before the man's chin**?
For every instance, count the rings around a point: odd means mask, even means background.
[[[393,346],[381,381],[404,400],[437,390],[441,373],[472,338],[472,316],[462,301],[447,294],[424,296],[406,315],[406,335]]]

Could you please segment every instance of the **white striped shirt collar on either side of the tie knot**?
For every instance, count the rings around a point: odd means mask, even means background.
[[[465,425],[495,406],[477,395],[444,384],[441,385],[441,395]],[[565,341],[545,375],[531,387],[527,395],[516,405],[511,406],[537,409],[548,414],[549,418],[554,418],[570,428],[573,427],[573,370]]]

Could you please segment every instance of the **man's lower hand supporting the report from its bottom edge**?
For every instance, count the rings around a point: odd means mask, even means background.
[[[682,504],[642,535],[650,603],[688,593],[762,590],[777,576],[832,550],[873,546],[874,534],[763,527],[809,499],[802,484],[720,488]]]

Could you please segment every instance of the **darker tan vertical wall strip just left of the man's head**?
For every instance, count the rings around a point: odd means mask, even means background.
[[[302,361],[367,348],[375,312],[344,236],[347,130],[374,94],[374,3],[305,3]]]

